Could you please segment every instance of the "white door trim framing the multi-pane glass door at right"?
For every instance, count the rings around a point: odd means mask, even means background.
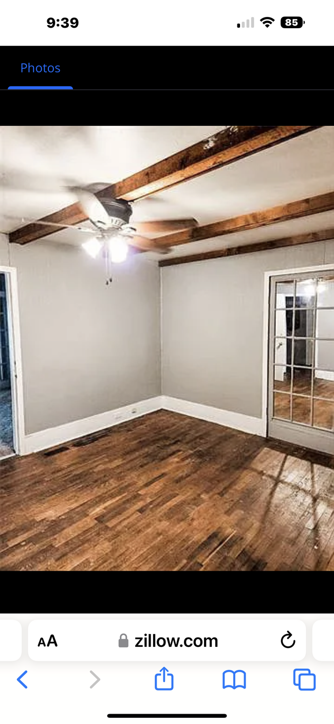
[[[317,266],[298,266],[295,269],[264,271],[262,353],[262,434],[264,437],[267,437],[270,277],[280,277],[283,274],[308,274],[309,271],[334,271],[334,264],[317,264]]]

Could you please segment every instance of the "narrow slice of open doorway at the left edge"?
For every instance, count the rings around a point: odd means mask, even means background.
[[[14,453],[7,284],[0,273],[0,458]]]

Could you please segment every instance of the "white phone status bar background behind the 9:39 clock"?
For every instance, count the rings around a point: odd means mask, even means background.
[[[300,29],[283,29],[280,18],[301,15]],[[255,27],[237,28],[254,16]],[[266,28],[260,22],[270,16]],[[78,28],[48,28],[48,17],[77,17]],[[44,3],[17,0],[1,3],[1,45],[333,45],[334,6],[327,0],[127,0],[109,2],[81,0]],[[22,62],[25,62],[23,59]],[[55,61],[57,62],[57,61]],[[88,56],[88,64],[93,56]],[[254,69],[254,80],[256,80]],[[298,68],[282,87],[298,86]],[[296,85],[297,83],[297,85]]]

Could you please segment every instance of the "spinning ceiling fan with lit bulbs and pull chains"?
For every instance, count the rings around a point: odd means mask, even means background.
[[[193,218],[134,222],[134,225],[131,225],[129,222],[133,213],[132,204],[122,198],[112,198],[109,194],[104,195],[103,188],[105,188],[104,184],[93,184],[91,187],[86,188],[79,186],[67,187],[77,196],[83,211],[93,224],[93,230],[82,226],[55,224],[26,218],[21,219],[21,221],[51,226],[55,230],[75,229],[91,235],[91,238],[84,242],[82,246],[93,258],[104,256],[107,283],[111,279],[111,265],[125,261],[128,254],[128,245],[133,246],[137,251],[156,251],[165,254],[170,251],[170,248],[165,245],[159,247],[155,241],[153,242],[150,237],[145,235],[168,235],[198,225],[196,219]],[[149,200],[151,201],[151,197],[149,197]]]

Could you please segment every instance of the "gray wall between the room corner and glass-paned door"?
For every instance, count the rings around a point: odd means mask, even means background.
[[[162,268],[162,394],[262,414],[264,271],[334,262],[334,241]]]

